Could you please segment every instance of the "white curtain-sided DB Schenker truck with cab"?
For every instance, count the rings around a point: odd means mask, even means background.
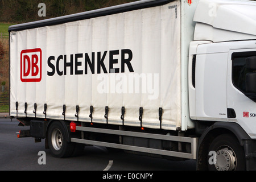
[[[9,27],[19,138],[256,169],[256,3],[142,0]]]

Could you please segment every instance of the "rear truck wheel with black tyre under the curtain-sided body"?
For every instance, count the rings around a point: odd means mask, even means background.
[[[49,126],[48,144],[51,154],[56,158],[65,158],[72,155],[74,144],[68,142],[68,134],[60,122],[53,122]]]

